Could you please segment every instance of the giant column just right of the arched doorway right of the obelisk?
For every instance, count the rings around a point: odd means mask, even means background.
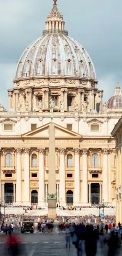
[[[80,204],[80,150],[74,149],[74,206]]]

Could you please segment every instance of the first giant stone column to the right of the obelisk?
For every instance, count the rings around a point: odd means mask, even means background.
[[[64,206],[65,201],[65,150],[60,149],[60,185],[59,185],[60,204]]]

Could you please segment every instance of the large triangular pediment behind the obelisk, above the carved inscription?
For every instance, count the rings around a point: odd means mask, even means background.
[[[30,132],[26,132],[22,135],[22,137],[41,137],[41,138],[47,138],[49,137],[49,125],[50,123],[48,124],[44,124],[38,128],[36,128],[35,130],[33,131],[30,131]],[[55,138],[69,138],[69,137],[76,137],[76,138],[81,138],[82,136],[77,133],[77,132],[73,132],[73,131],[70,131],[58,124],[54,124],[55,126]]]

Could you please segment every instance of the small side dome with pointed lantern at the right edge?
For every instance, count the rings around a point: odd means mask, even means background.
[[[122,108],[122,95],[119,85],[115,88],[114,96],[112,96],[107,102],[108,108]]]

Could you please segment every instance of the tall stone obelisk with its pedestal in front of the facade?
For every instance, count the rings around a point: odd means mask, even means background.
[[[53,123],[54,101],[50,100],[49,164],[48,164],[48,218],[56,218],[55,131]]]

